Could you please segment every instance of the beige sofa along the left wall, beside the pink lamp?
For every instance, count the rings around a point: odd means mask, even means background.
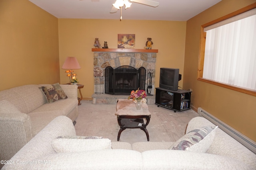
[[[55,117],[64,115],[74,121],[78,116],[76,85],[61,84],[68,98],[52,103],[47,102],[39,88],[42,86],[48,85],[24,85],[0,92],[0,160],[9,160]]]

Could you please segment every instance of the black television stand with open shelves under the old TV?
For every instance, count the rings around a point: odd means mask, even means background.
[[[185,111],[190,109],[191,91],[180,90],[172,91],[164,88],[156,88],[156,102],[159,107],[176,111]]]

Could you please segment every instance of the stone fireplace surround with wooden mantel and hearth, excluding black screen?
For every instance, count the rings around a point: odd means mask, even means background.
[[[105,68],[111,66],[144,67],[146,69],[146,87],[148,86],[148,70],[153,70],[152,91],[154,95],[156,53],[158,50],[150,49],[92,49],[94,52],[94,94],[93,104],[116,104],[117,98],[128,98],[127,95],[105,94]],[[136,89],[134,89],[136,90]],[[148,104],[154,104],[155,96],[147,96]]]

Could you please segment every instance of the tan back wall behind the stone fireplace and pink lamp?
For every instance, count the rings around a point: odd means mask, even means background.
[[[60,82],[67,83],[68,77],[61,69],[66,57],[76,57],[81,69],[75,70],[84,98],[94,93],[93,52],[94,39],[100,44],[108,42],[108,48],[117,48],[117,35],[135,34],[136,49],[143,49],[148,37],[152,38],[153,49],[158,49],[156,58],[156,84],[159,86],[160,67],[180,68],[183,74],[186,21],[145,20],[89,20],[59,19]],[[182,86],[182,81],[180,81]]]

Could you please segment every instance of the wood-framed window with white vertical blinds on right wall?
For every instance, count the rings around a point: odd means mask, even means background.
[[[202,25],[198,80],[256,96],[253,5]]]

